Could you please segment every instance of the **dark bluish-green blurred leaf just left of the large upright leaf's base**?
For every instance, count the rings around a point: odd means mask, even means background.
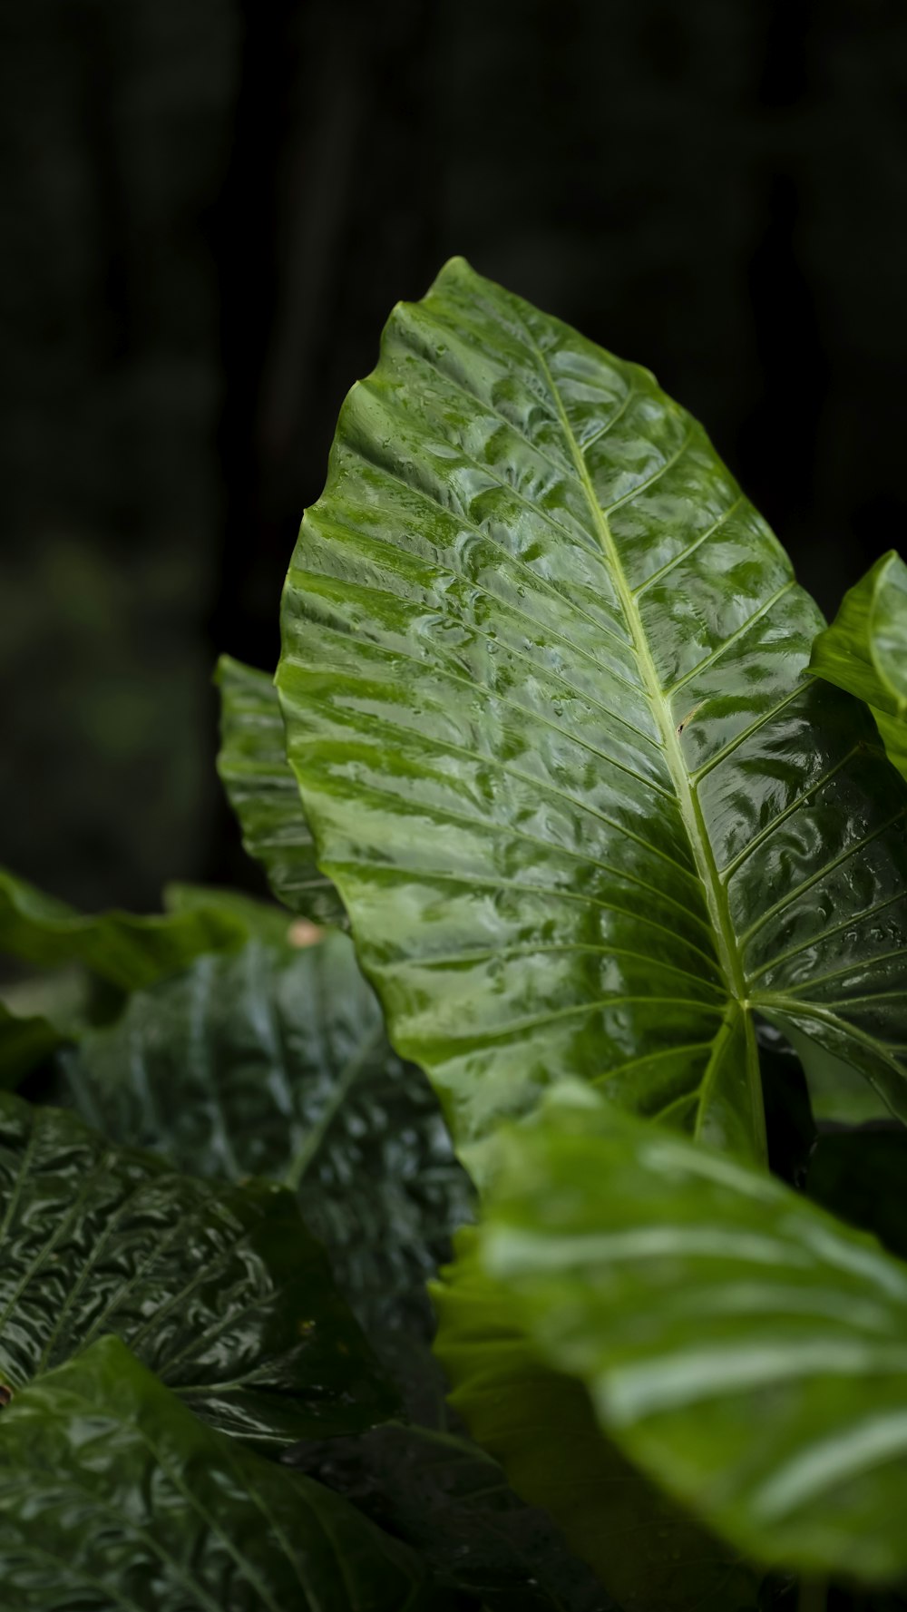
[[[470,1214],[470,1186],[346,935],[200,958],[87,1035],[68,1078],[84,1117],[118,1141],[292,1186],[369,1336],[427,1333],[424,1285]]]

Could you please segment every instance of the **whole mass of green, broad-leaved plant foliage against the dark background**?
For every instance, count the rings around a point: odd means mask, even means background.
[[[219,669],[279,906],[0,882],[0,1604],[907,1606],[905,582],[395,310]]]

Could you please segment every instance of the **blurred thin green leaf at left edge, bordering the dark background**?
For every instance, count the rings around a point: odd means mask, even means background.
[[[159,917],[101,912],[84,917],[0,869],[0,953],[39,967],[81,962],[119,990],[150,985],[184,969],[205,951],[229,951],[246,940],[243,924],[222,909]]]

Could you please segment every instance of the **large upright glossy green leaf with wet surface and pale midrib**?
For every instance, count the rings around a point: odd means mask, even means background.
[[[469,1149],[565,1077],[765,1151],[752,1012],[907,1114],[907,790],[648,371],[454,260],[343,405],[277,672],[319,866]]]

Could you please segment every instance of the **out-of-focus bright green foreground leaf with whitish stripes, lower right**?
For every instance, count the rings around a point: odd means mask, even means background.
[[[488,1219],[441,1299],[483,1288],[603,1430],[756,1560],[907,1572],[907,1265],[772,1177],[604,1104],[501,1136]]]

